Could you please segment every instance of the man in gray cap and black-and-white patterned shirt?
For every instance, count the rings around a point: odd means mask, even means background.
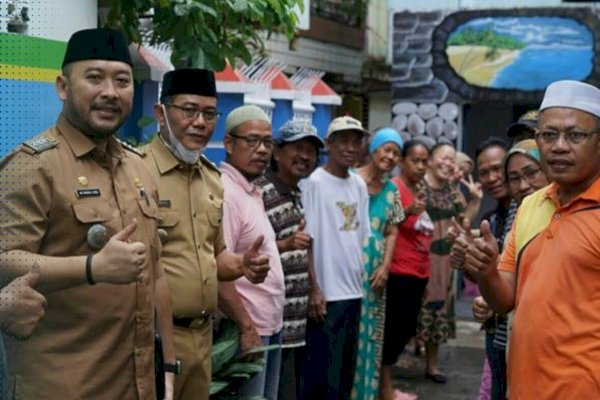
[[[291,120],[280,129],[271,168],[255,183],[263,192],[265,211],[277,235],[277,248],[285,276],[285,308],[281,334],[282,364],[279,398],[298,393],[303,359],[312,270],[311,238],[304,231],[304,208],[298,182],[317,164],[324,144],[309,121]],[[299,394],[299,393],[298,393]]]

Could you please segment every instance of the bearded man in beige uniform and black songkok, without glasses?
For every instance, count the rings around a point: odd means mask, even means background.
[[[24,400],[154,400],[155,307],[166,362],[175,361],[171,308],[156,186],[114,137],[133,101],[123,36],[76,32],[56,88],[56,125],[0,165],[2,282],[37,263],[48,303],[29,340],[4,337],[9,387]]]

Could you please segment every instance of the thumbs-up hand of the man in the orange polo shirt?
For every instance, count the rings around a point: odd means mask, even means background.
[[[487,276],[498,263],[498,242],[490,229],[490,223],[481,223],[481,238],[469,245],[465,256],[465,264],[478,278]]]

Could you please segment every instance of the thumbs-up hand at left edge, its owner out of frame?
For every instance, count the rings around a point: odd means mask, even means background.
[[[46,299],[33,289],[39,277],[36,261],[31,271],[0,291],[0,327],[4,333],[27,339],[44,316]]]

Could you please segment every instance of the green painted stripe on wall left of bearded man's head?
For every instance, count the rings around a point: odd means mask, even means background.
[[[0,33],[0,63],[61,69],[66,42],[14,33]]]

